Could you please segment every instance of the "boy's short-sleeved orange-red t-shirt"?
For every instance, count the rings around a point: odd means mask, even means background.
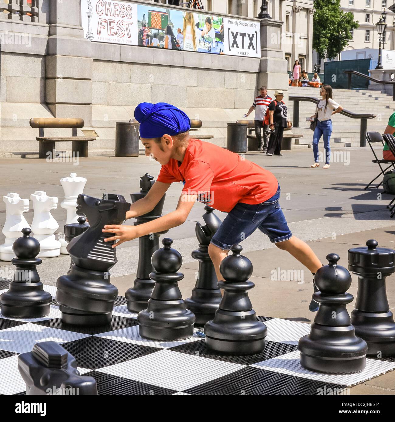
[[[260,204],[271,198],[278,181],[270,171],[209,142],[190,139],[182,163],[171,158],[158,181],[184,183],[182,193],[229,212],[238,203]]]

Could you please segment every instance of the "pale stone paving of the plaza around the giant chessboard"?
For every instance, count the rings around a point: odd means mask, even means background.
[[[386,208],[391,195],[382,194],[382,189],[364,190],[365,185],[379,172],[379,167],[371,162],[372,153],[368,148],[336,149],[335,160],[329,170],[308,168],[313,163],[311,149],[283,151],[283,157],[270,157],[257,152],[245,154],[245,159],[267,168],[278,178],[281,186],[281,207],[292,233],[308,242],[321,262],[326,264],[329,253],[340,255],[340,265],[347,267],[347,250],[354,246],[365,245],[374,238],[379,246],[394,247],[395,219],[390,218]],[[377,151],[381,154],[380,151]],[[101,197],[104,192],[124,195],[130,201],[129,194],[137,192],[139,179],[145,173],[156,176],[160,165],[144,155],[139,157],[92,156],[73,162],[46,162],[35,158],[0,159],[2,178],[0,179],[1,196],[8,192],[17,192],[22,198],[30,198],[36,190],[45,191],[50,196],[63,200],[60,178],[75,172],[77,176],[87,178],[84,193]],[[381,180],[381,179],[380,179]],[[182,184],[174,183],[166,194],[163,213],[175,209]],[[216,211],[223,219],[226,214]],[[173,247],[183,256],[180,269],[185,277],[179,286],[183,298],[191,294],[195,283],[198,263],[191,257],[197,249],[195,236],[196,222],[202,220],[204,205],[196,203],[188,220],[180,227],[169,230],[165,236],[173,239]],[[59,232],[63,231],[66,212],[58,206],[52,215],[59,223]],[[29,223],[33,219],[33,209],[25,214]],[[128,220],[127,224],[133,224]],[[5,222],[5,204],[0,202],[0,226]],[[163,236],[162,236],[163,237]],[[4,235],[0,234],[3,242]],[[308,310],[313,293],[313,276],[287,252],[277,249],[274,244],[258,230],[242,241],[241,246],[246,257],[253,264],[251,280],[255,288],[249,295],[257,314],[290,319],[293,321],[313,321],[314,315]],[[135,278],[138,240],[125,242],[117,248],[118,263],[111,271],[111,282],[117,286],[120,295],[131,287]],[[57,258],[44,259],[38,267],[41,281],[55,285],[60,275],[67,272],[70,258],[61,255]],[[8,262],[0,262],[6,275]],[[293,280],[273,280],[276,274],[287,272]],[[296,270],[296,271],[293,271]],[[295,277],[296,274],[296,277]],[[357,295],[357,278],[352,276],[349,292],[354,301],[347,308],[354,307]],[[387,279],[387,295],[390,308],[395,308],[395,278]],[[386,373],[364,384],[351,388],[351,394],[395,394],[395,371]]]

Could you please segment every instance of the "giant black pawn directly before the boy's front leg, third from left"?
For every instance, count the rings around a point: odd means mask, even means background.
[[[220,271],[225,281],[218,281],[224,290],[219,308],[212,321],[204,325],[206,346],[224,354],[256,354],[265,347],[267,327],[256,320],[248,290],[255,284],[248,278],[252,274],[251,261],[240,255],[242,247],[233,245],[232,255],[225,257]]]

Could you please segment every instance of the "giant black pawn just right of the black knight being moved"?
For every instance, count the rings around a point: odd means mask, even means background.
[[[195,315],[185,309],[178,281],[184,278],[177,273],[183,259],[180,252],[171,248],[172,239],[162,240],[163,248],[152,255],[154,271],[150,273],[155,287],[147,309],[139,312],[139,334],[153,340],[182,340],[193,335]]]

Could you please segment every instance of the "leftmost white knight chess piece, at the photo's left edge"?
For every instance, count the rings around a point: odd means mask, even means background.
[[[11,261],[16,258],[12,245],[17,238],[22,237],[22,229],[30,228],[25,217],[24,212],[29,211],[29,200],[22,199],[17,193],[10,192],[3,196],[5,202],[5,223],[3,227],[3,234],[5,235],[5,242],[0,246],[0,260]]]

